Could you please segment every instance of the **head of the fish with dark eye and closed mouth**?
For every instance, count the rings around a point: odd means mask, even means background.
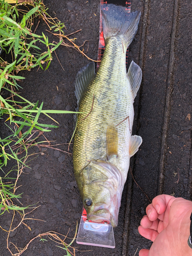
[[[115,166],[90,161],[81,170],[80,191],[88,220],[110,221],[116,227],[123,185],[123,177]]]

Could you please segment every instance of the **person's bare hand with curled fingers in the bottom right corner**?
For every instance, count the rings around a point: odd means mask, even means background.
[[[155,197],[138,227],[141,236],[153,244],[150,250],[140,250],[139,256],[192,255],[187,244],[191,212],[191,201],[169,195]]]

